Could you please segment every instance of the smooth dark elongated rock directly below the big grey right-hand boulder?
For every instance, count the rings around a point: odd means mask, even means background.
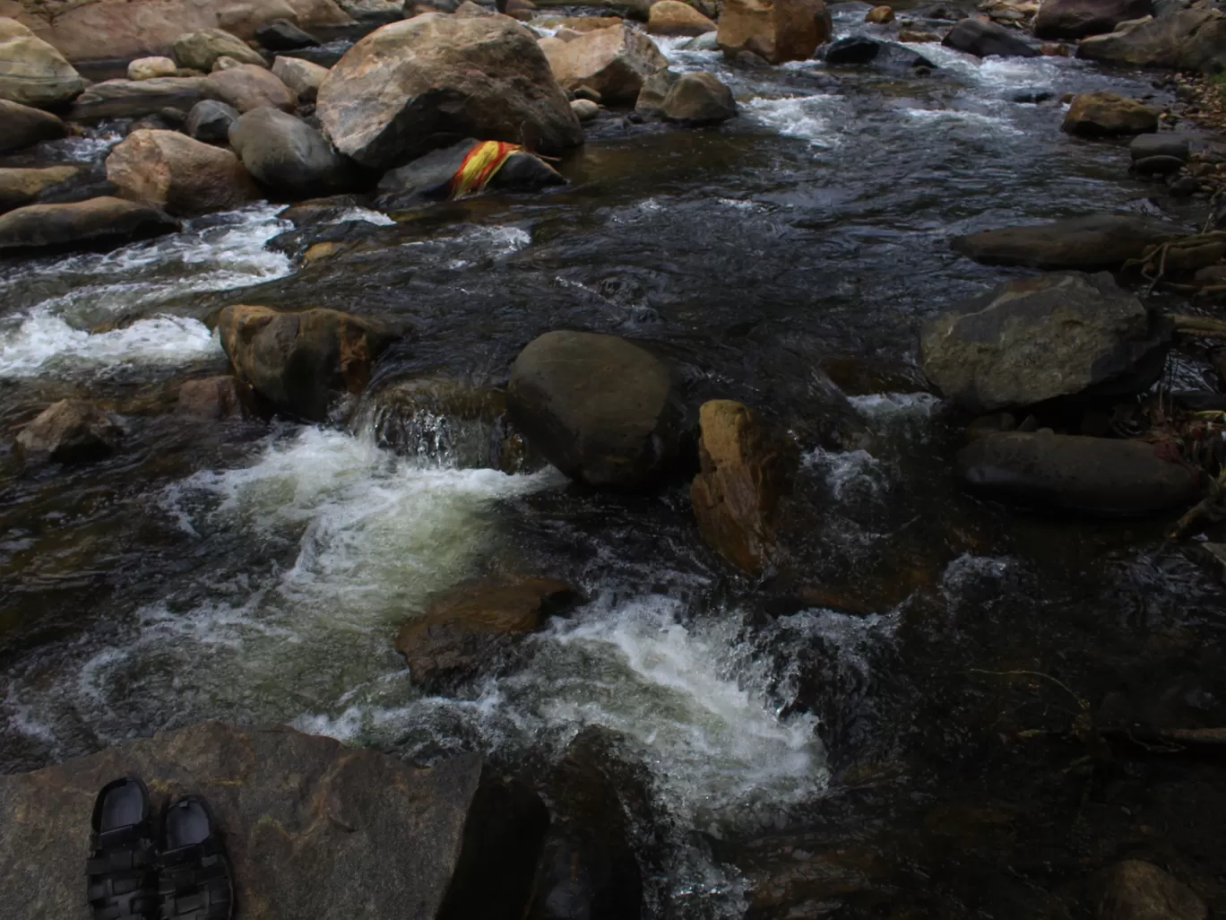
[[[958,475],[989,497],[1108,516],[1186,508],[1205,485],[1162,445],[1049,432],[980,438],[959,451]]]

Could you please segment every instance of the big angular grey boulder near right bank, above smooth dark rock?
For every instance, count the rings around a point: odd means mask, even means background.
[[[1092,391],[1137,393],[1162,372],[1168,324],[1111,275],[1008,281],[924,324],[924,374],[986,413]]]

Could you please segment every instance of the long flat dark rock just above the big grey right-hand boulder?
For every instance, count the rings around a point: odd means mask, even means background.
[[[1149,247],[1184,236],[1172,223],[1132,215],[1069,217],[955,237],[955,251],[986,265],[1031,269],[1118,269]]]

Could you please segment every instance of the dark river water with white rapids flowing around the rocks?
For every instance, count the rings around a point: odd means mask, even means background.
[[[864,9],[839,7],[839,31],[874,34]],[[650,776],[660,918],[1034,916],[1145,834],[1192,861],[1208,851],[1221,794],[1200,767],[1086,778],[1076,746],[1020,740],[1067,731],[1075,700],[983,672],[1213,724],[1220,588],[1162,542],[1162,521],[1054,520],[959,493],[960,420],[916,367],[922,319],[1009,275],[956,258],[950,236],[1195,215],[1129,179],[1124,147],[1067,137],[1058,102],[1019,93],[1162,94],[1076,60],[931,44],[915,45],[931,76],[837,82],[815,61],[736,70],[662,44],[676,67],[727,81],[741,117],[709,131],[603,121],[555,194],[396,221],[354,204],[297,231],[260,205],[108,254],[0,263],[5,429],[82,395],[128,431],[87,469],[0,456],[0,769],[221,718],[423,763],[478,749],[516,772],[603,726]],[[37,156],[97,161],[118,136]],[[329,233],[349,243],[302,265],[303,240]],[[332,424],[184,422],[174,394],[224,370],[207,320],[235,302],[352,310],[408,335]],[[498,388],[554,328],[650,342],[691,402],[741,399],[792,428],[805,526],[788,579],[731,573],[683,483],[592,494],[548,467],[488,469],[485,422],[432,411],[387,427],[387,385]],[[565,578],[587,600],[454,693],[413,688],[398,626],[503,570]]]

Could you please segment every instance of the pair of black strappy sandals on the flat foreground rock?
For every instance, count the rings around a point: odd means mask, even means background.
[[[135,776],[103,786],[93,803],[86,864],[93,920],[230,920],[234,882],[208,803],[167,805],[156,822]]]

